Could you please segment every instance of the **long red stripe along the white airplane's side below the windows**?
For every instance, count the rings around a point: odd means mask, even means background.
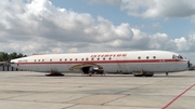
[[[145,63],[187,63],[187,60],[180,59],[138,59],[138,60],[67,60],[67,62],[32,62],[32,63],[16,63],[17,65],[68,65],[68,64],[145,64]]]

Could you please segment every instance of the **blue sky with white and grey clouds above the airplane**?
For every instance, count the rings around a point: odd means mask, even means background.
[[[162,50],[195,63],[195,0],[1,0],[0,52]]]

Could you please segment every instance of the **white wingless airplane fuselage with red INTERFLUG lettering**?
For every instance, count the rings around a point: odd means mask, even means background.
[[[168,51],[125,51],[99,53],[68,53],[32,55],[11,60],[11,66],[22,70],[50,72],[49,76],[83,72],[90,74],[94,67],[104,72],[131,72],[134,77],[153,77],[154,73],[184,71],[190,60]]]

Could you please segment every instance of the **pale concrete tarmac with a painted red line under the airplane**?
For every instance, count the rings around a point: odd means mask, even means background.
[[[0,72],[0,109],[194,109],[195,71],[46,77]]]

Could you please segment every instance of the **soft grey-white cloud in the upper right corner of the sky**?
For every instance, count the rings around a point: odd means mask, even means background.
[[[145,18],[191,17],[195,15],[195,0],[121,0],[121,10]]]

